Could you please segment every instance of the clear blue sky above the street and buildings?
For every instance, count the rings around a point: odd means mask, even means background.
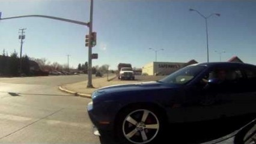
[[[88,22],[89,8],[90,1],[0,1],[2,18],[41,14]],[[99,59],[93,65],[115,69],[119,62],[128,62],[143,67],[155,59],[150,47],[164,49],[157,61],[206,62],[204,19],[189,8],[206,16],[221,14],[208,21],[210,61],[219,61],[215,50],[225,50],[222,61],[237,55],[256,64],[256,1],[94,0],[93,53],[99,53]],[[0,53],[20,52],[20,28],[26,28],[23,53],[30,57],[67,64],[69,54],[73,67],[88,61],[86,26],[36,17],[0,20]]]

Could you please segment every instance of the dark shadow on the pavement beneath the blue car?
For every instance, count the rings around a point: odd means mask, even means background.
[[[214,121],[168,125],[163,139],[157,143],[199,144],[209,142],[239,130],[254,118],[255,115],[246,115]],[[102,144],[118,144],[108,136],[102,136],[99,139]]]

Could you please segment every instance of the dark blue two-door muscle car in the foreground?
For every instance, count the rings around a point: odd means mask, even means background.
[[[256,113],[256,66],[236,62],[190,65],[157,82],[97,89],[87,110],[94,134],[150,143],[165,125]]]

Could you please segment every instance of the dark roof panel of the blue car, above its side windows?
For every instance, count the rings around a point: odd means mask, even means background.
[[[251,67],[256,68],[256,65],[246,64],[240,62],[204,62],[195,65],[206,65],[207,67],[225,67],[225,66],[233,66],[233,67]]]

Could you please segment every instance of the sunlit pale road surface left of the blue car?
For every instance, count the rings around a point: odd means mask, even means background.
[[[0,78],[1,143],[100,143],[92,134],[88,98],[74,97],[58,85],[87,76]]]

